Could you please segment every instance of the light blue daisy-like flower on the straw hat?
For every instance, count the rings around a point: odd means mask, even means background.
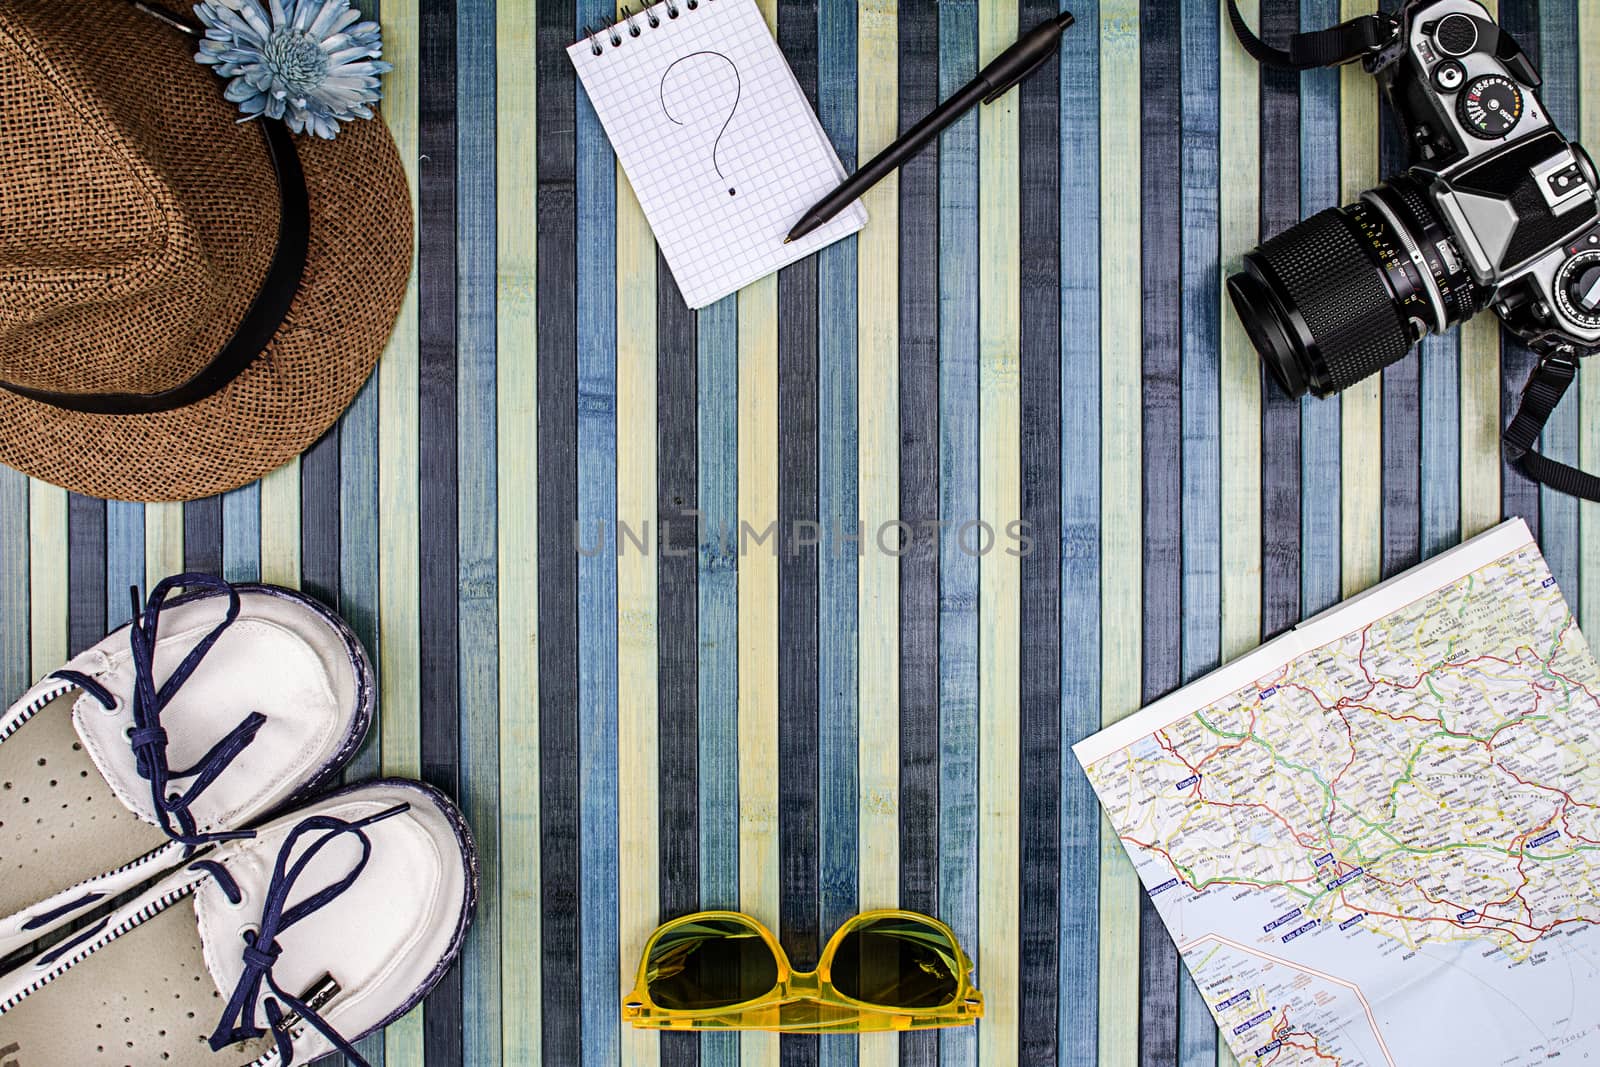
[[[216,67],[245,122],[282,118],[294,133],[333,138],[341,122],[371,118],[382,93],[378,22],[350,0],[202,0],[205,38],[195,62]]]

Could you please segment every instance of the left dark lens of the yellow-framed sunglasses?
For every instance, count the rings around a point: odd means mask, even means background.
[[[747,923],[709,918],[674,926],[650,947],[650,1000],[670,1011],[741,1005],[778,985],[778,960]]]

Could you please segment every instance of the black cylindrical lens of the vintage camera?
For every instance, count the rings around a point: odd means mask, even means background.
[[[1227,290],[1291,397],[1328,397],[1376,374],[1482,301],[1411,176],[1283,230],[1245,256]]]

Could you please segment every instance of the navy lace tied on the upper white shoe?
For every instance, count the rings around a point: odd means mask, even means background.
[[[208,589],[227,595],[227,614],[211,629],[200,643],[189,649],[171,677],[155,686],[155,640],[160,632],[162,605],[178,589]],[[166,837],[182,843],[187,849],[211,841],[227,841],[234,838],[253,837],[250,830],[202,833],[195,824],[190,806],[216,777],[227,769],[240,752],[256,737],[256,731],[267,721],[261,712],[251,712],[221,741],[211,745],[194,766],[173,769],[166,761],[166,731],[162,729],[162,712],[178,694],[178,689],[194,675],[200,661],[206,657],[222,632],[238,619],[238,592],[221,577],[210,574],[176,574],[150,590],[150,598],[139,611],[139,590],[133,589],[133,622],[128,624],[128,646],[133,653],[133,729],[128,741],[133,744],[134,766],[139,777],[150,784],[150,803],[155,817]],[[107,710],[114,709],[117,697],[106,686],[75,670],[58,670],[62,681],[70,681],[93,696]],[[176,789],[174,781],[192,779],[187,789]]]

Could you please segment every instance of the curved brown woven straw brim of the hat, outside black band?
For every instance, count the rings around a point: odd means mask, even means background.
[[[221,82],[206,107],[226,107]],[[285,323],[250,368],[198,403],[82,414],[0,390],[0,462],[88,496],[186,501],[232,490],[306,451],[355,400],[405,299],[411,198],[381,120],[296,138],[310,251]],[[275,195],[275,194],[274,194]]]

